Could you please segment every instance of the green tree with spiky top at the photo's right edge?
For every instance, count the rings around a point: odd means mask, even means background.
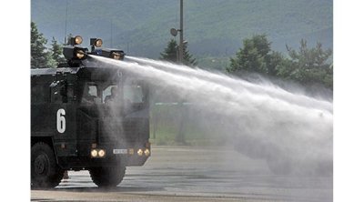
[[[332,50],[324,50],[318,43],[316,47],[308,48],[307,41],[301,39],[298,51],[287,46],[290,57],[289,66],[281,68],[278,76],[289,78],[303,85],[320,84],[332,89],[333,68],[329,64]]]

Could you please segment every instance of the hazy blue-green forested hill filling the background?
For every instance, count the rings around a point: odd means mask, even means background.
[[[185,38],[197,58],[233,56],[243,38],[263,33],[278,51],[301,38],[332,47],[332,9],[332,0],[185,0]],[[32,0],[31,19],[48,39],[101,37],[129,56],[157,58],[179,26],[179,1]]]

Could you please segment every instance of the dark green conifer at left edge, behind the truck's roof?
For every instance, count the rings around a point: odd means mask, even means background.
[[[52,59],[51,53],[45,47],[47,40],[43,34],[38,32],[34,22],[31,22],[31,68],[45,68],[52,66],[55,62]]]

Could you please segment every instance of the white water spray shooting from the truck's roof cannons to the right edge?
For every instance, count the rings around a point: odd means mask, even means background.
[[[273,164],[272,169],[332,173],[329,101],[162,61],[92,57],[93,62],[122,68],[168,89],[171,95],[183,97],[198,110],[218,118],[221,136],[231,139],[239,152],[266,159]]]

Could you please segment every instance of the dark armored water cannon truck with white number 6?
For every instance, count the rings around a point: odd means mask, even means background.
[[[98,187],[116,187],[126,167],[150,156],[147,84],[115,66],[87,66],[90,55],[124,52],[98,48],[96,38],[89,52],[81,42],[64,47],[65,64],[31,69],[32,187],[56,187],[66,170],[83,169]]]

